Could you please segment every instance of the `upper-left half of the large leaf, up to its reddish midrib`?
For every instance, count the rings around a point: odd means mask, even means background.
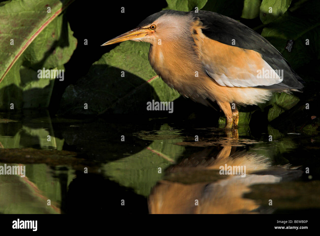
[[[1,4],[0,82],[36,36],[72,2],[16,0]],[[51,8],[51,13],[47,13],[47,7]]]

